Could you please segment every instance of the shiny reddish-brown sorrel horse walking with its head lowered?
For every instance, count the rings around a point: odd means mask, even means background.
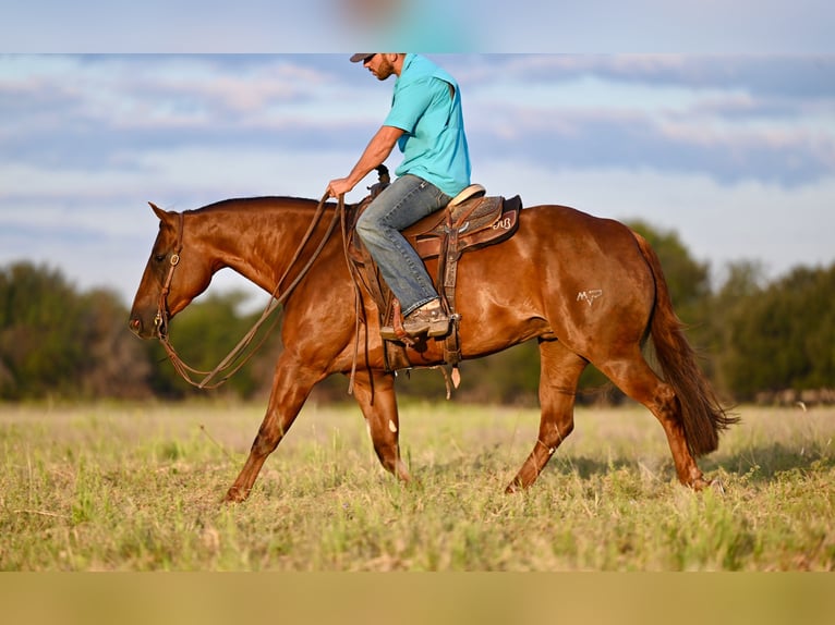
[[[249,497],[314,384],[354,369],[353,394],[374,450],[388,471],[408,481],[395,376],[385,370],[375,305],[362,298],[365,324],[358,332],[355,286],[341,236],[327,230],[329,217],[312,229],[310,241],[324,244],[315,259],[313,243],[299,246],[317,210],[332,216],[336,206],[261,197],[182,213],[152,207],[160,219],[159,233],[130,317],[138,336],[166,334],[168,318],[221,268],[274,294],[283,289],[279,281],[293,282],[292,291],[282,294],[285,348],[266,416],[226,500]],[[573,430],[574,395],[589,363],[661,421],[678,479],[697,490],[709,485],[694,457],[714,451],[719,431],[737,419],[722,407],[698,367],[658,258],[642,236],[617,221],[564,206],[525,208],[511,238],[460,259],[457,302],[464,359],[538,341],[538,436],[508,492],[531,486]],[[648,335],[661,377],[642,355]],[[441,343],[420,341],[408,356],[415,366],[441,364]]]

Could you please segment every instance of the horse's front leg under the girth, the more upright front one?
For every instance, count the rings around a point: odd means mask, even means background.
[[[365,417],[368,434],[380,464],[401,480],[409,481],[409,470],[400,457],[400,421],[394,376],[356,371],[354,397]]]

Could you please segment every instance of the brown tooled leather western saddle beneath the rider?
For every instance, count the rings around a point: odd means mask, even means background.
[[[366,197],[359,205],[347,207],[346,221],[351,224],[347,233],[348,259],[354,278],[361,281],[377,305],[380,326],[402,327],[400,303],[383,280],[379,269],[371,258],[359,236],[354,235],[356,220],[376,196]],[[456,196],[449,205],[413,225],[402,234],[415,248],[426,265],[429,275],[435,267],[435,286],[441,305],[452,320],[444,341],[444,360],[456,367],[461,360],[458,326],[461,316],[456,309],[456,280],[458,261],[464,253],[474,252],[487,245],[509,238],[519,226],[519,211],[522,200],[517,195],[510,199],[488,197],[481,185],[471,185]],[[408,369],[413,365],[407,354],[408,338],[402,341],[384,340],[384,356],[387,371]]]

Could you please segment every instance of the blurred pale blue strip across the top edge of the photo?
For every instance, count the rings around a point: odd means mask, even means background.
[[[830,0],[0,0],[14,52],[832,50]]]

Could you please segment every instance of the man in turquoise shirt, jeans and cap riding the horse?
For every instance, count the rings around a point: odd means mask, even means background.
[[[406,333],[441,336],[449,332],[449,317],[423,261],[400,231],[444,208],[470,184],[460,90],[452,76],[419,54],[351,57],[351,62],[360,61],[378,81],[397,75],[391,110],[351,173],[330,181],[328,193],[337,197],[350,192],[398,145],[403,152],[398,177],[362,213],[356,233],[400,302]],[[380,333],[395,338],[389,327]]]

